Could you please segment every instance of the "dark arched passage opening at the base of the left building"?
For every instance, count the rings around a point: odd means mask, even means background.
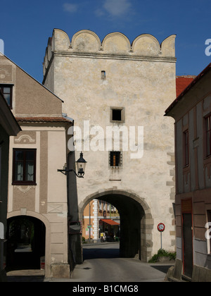
[[[45,257],[46,228],[32,216],[14,216],[7,221],[7,270],[41,269]]]

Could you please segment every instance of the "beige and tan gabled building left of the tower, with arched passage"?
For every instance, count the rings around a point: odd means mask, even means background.
[[[72,122],[63,117],[63,101],[6,56],[0,73],[21,127],[8,155],[7,266],[33,261],[46,277],[69,277],[67,181],[57,170],[67,161]]]

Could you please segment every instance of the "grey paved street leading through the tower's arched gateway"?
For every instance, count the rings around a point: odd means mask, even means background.
[[[138,259],[119,257],[119,243],[84,245],[84,264],[75,266],[70,279],[44,278],[41,271],[11,271],[8,282],[89,282],[140,283],[163,282],[171,262],[148,264]]]

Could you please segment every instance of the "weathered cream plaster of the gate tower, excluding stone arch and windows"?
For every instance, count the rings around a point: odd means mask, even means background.
[[[90,36],[89,39],[86,35],[85,45],[83,40],[75,38],[72,47],[67,47],[67,36],[56,32],[58,46],[54,56],[53,85],[56,95],[65,101],[63,112],[74,118],[75,125],[82,131],[84,121],[89,121],[90,128],[100,125],[106,131],[106,126],[114,125],[110,123],[110,106],[124,107],[123,125],[144,128],[144,153],[141,159],[131,159],[131,151],[123,152],[122,167],[112,169],[108,166],[108,151],[88,152],[82,147],[88,163],[85,178],[77,180],[79,203],[98,190],[116,187],[134,192],[145,199],[151,209],[153,253],[160,249],[157,230],[160,222],[166,225],[162,247],[174,249],[170,238],[170,231],[174,231],[170,213],[174,180],[170,170],[174,166],[168,164],[170,156],[167,155],[174,153],[174,120],[164,117],[165,109],[176,97],[174,38],[163,44],[164,56],[154,37],[139,38],[136,50],[129,51],[127,39],[122,35],[106,37],[101,51],[96,42],[96,53],[90,54],[90,44],[88,47],[86,43],[92,42],[93,35]],[[76,42],[77,48],[74,47]],[[141,49],[145,49],[142,56]],[[101,70],[106,71],[106,80],[101,79]],[[76,159],[78,157],[79,152]]]

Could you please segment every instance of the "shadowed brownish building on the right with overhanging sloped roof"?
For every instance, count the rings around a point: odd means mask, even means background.
[[[211,64],[166,110],[175,120],[177,259],[193,281],[210,281]]]

